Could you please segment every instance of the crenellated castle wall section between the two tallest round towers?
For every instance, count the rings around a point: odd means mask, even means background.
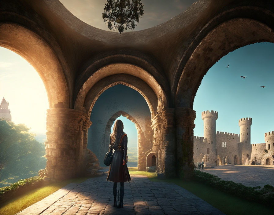
[[[225,142],[225,147],[222,147],[222,142],[223,143]],[[220,156],[221,164],[226,164],[225,158],[227,158],[227,163],[234,164],[235,155],[238,158],[238,163],[236,162],[236,164],[240,164],[240,153],[239,153],[240,144],[238,144],[239,142],[240,142],[239,134],[217,131],[216,149],[217,149],[217,155]]]

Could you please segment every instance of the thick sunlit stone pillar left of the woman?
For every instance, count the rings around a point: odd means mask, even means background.
[[[91,121],[83,112],[69,108],[47,110],[45,177],[62,180],[82,174]]]

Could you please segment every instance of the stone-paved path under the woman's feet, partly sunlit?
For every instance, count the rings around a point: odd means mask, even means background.
[[[152,182],[141,175],[132,175],[130,183],[124,183],[123,208],[115,208],[113,182],[106,177],[68,184],[17,215],[224,214],[176,184]]]

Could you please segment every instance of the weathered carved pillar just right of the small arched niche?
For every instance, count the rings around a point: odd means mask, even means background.
[[[154,130],[152,148],[158,152],[157,173],[163,173],[166,178],[175,177],[174,108],[166,108],[158,112],[152,119],[151,128]]]

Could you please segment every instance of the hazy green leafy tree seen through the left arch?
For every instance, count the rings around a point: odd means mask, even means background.
[[[0,179],[28,178],[46,166],[45,146],[24,124],[0,120]],[[0,181],[1,181],[0,180]],[[1,183],[1,182],[0,182]],[[3,184],[3,182],[2,182]]]

